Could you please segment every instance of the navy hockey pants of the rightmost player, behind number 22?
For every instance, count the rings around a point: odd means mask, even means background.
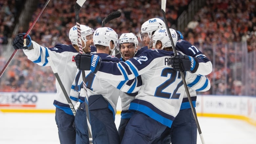
[[[191,109],[180,110],[171,128],[167,127],[154,144],[196,144],[197,126]]]

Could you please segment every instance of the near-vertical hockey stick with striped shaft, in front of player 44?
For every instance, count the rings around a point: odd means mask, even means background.
[[[77,27],[77,42],[79,46],[79,53],[83,54],[83,48],[82,48],[82,39],[81,39],[81,29],[80,29],[80,18],[79,18],[79,11],[86,0],[77,0],[75,3],[75,21],[76,21],[76,27]],[[86,111],[86,117],[87,117],[87,125],[88,125],[88,134],[89,134],[89,143],[93,143],[93,136],[92,136],[92,127],[91,127],[91,121],[90,121],[90,113],[89,113],[89,101],[88,101],[88,95],[87,95],[87,86],[86,86],[86,79],[85,79],[85,72],[82,71],[82,77],[83,77],[83,89],[85,94],[85,111]]]

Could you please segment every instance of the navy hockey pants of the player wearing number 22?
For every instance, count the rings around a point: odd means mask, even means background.
[[[125,128],[121,144],[151,144],[165,129],[165,125],[136,111]]]

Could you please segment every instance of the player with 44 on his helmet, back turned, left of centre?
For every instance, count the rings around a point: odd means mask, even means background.
[[[117,33],[113,29],[107,27],[98,28],[93,35],[93,39],[97,48],[95,55],[97,57],[100,56],[102,62],[119,62],[117,57],[109,55],[111,54],[110,42],[114,42],[114,48],[118,46]],[[93,143],[119,144],[120,140],[115,125],[119,90],[112,86],[110,81],[96,77],[91,71],[85,71],[85,75]],[[72,97],[77,98],[80,94],[75,116],[76,144],[89,144],[88,125],[86,122],[87,110],[85,109],[86,93],[84,93],[85,90],[82,87],[82,75],[79,70],[76,72],[72,87],[70,93]]]

